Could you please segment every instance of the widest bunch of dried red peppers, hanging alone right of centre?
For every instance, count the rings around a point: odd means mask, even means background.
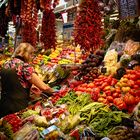
[[[102,14],[97,0],[83,0],[75,21],[74,39],[86,51],[98,49],[103,41]]]

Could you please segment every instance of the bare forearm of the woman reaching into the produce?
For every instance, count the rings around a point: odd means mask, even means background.
[[[54,90],[50,88],[47,84],[45,84],[37,74],[32,73],[31,79],[29,80],[30,83],[34,84],[36,87],[38,87],[40,90],[47,92],[47,93],[52,93]]]

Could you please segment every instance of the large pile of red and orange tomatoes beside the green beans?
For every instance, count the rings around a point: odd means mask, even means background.
[[[79,84],[74,90],[78,94],[91,94],[94,101],[114,104],[120,110],[132,112],[140,102],[140,70],[127,70],[119,81],[112,76],[100,75],[92,83]]]

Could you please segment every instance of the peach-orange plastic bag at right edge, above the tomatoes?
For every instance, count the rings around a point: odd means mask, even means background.
[[[140,50],[140,43],[134,42],[133,40],[128,40],[125,44],[124,52],[128,55],[135,54],[138,50]]]

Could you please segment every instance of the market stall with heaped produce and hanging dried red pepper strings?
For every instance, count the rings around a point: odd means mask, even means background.
[[[35,96],[31,91],[27,108],[0,119],[0,140],[139,140],[138,11],[133,21],[113,23],[110,15],[116,11],[116,1],[83,0],[74,23],[74,40],[56,43],[52,5],[36,2],[43,9],[39,38],[43,45],[37,48],[38,7],[32,0],[21,5],[23,41],[36,46],[32,65],[55,92]],[[55,8],[58,1],[53,2]],[[5,52],[0,65],[10,59],[6,54],[12,51]]]

